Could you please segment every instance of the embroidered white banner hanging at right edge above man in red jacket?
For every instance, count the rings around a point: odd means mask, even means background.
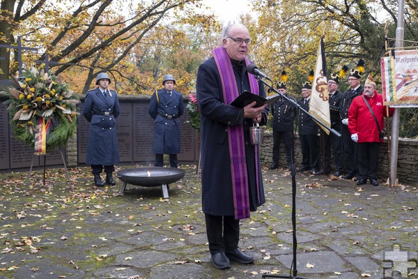
[[[418,50],[399,50],[382,57],[382,93],[385,105],[418,106]]]

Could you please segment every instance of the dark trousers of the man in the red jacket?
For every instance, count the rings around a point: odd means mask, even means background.
[[[380,142],[357,144],[359,179],[378,179]]]

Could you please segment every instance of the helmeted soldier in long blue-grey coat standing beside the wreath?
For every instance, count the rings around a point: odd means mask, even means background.
[[[108,89],[110,77],[107,73],[99,73],[96,84],[98,88],[87,92],[83,107],[84,117],[90,122],[86,164],[93,169],[95,186],[104,186],[100,178],[103,167],[106,184],[114,186],[114,164],[120,162],[115,119],[121,113],[121,107],[116,91]]]

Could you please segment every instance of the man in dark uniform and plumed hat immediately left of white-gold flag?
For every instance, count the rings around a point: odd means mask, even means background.
[[[311,98],[312,85],[311,82],[304,82],[302,84],[302,99],[299,103],[302,109],[309,112],[309,99]],[[309,171],[314,174],[318,172],[318,133],[319,126],[312,119],[309,114],[299,110],[298,113],[298,126],[299,126],[299,139],[300,139],[300,148],[302,149],[302,167],[297,169],[297,172]]]

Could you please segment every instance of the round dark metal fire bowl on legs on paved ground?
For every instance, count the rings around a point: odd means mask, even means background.
[[[144,187],[162,186],[164,198],[168,197],[167,185],[184,176],[185,171],[176,167],[135,167],[118,172],[118,179],[124,182],[121,194],[125,192],[127,183]]]

